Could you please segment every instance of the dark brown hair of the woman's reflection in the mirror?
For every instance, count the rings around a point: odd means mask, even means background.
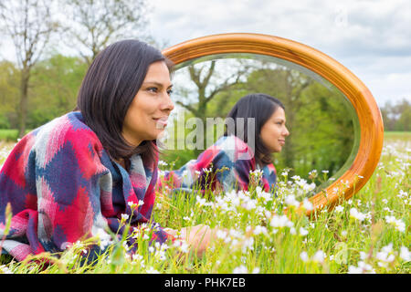
[[[253,138],[255,145],[249,145],[253,148],[256,162],[259,165],[265,165],[272,163],[272,156],[269,149],[264,145],[260,138],[260,132],[262,126],[272,116],[272,114],[281,107],[283,110],[284,105],[279,99],[273,98],[264,93],[252,93],[248,94],[237,101],[233,109],[227,115],[227,118],[237,120],[238,118],[244,119],[244,123],[238,123],[244,125],[243,129],[237,129],[237,122],[234,123],[234,129],[229,131],[229,127],[224,133],[224,136],[235,135],[238,138],[243,139],[246,143]],[[255,129],[248,130],[248,118],[255,119]],[[248,134],[254,135],[254,137],[248,137]],[[254,147],[253,147],[254,146]]]

